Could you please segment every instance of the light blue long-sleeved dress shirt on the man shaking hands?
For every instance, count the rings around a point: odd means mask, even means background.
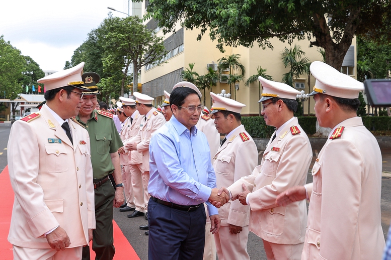
[[[206,202],[209,215],[216,215],[217,208],[208,202],[212,188],[216,176],[205,135],[196,126],[189,131],[172,116],[149,143],[148,192],[183,206]]]

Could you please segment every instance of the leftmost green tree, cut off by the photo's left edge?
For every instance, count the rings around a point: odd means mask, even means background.
[[[21,52],[0,36],[0,95],[14,100],[22,93],[22,72],[26,69],[26,60]],[[12,104],[15,115],[16,104]]]

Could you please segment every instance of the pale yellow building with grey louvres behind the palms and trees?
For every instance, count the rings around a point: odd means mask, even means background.
[[[145,10],[145,4],[142,5],[142,10]],[[172,87],[182,81],[181,73],[184,69],[189,68],[189,63],[194,63],[193,71],[196,71],[199,75],[205,75],[208,70],[207,66],[214,66],[208,64],[216,64],[217,60],[231,54],[240,54],[240,63],[244,65],[246,69],[244,80],[239,83],[236,90],[236,100],[246,104],[246,107],[242,109],[242,115],[259,115],[259,84],[255,82],[250,84],[249,87],[245,86],[245,81],[252,75],[257,74],[257,67],[261,66],[262,69],[266,69],[266,74],[273,77],[275,81],[281,81],[282,75],[289,71],[289,68],[284,68],[282,64],[282,52],[285,47],[293,48],[294,45],[301,47],[301,50],[305,52],[310,62],[320,60],[322,61],[322,55],[318,51],[317,47],[309,47],[309,41],[294,41],[292,46],[287,43],[278,41],[278,39],[271,39],[273,50],[258,47],[255,43],[252,48],[245,48],[242,46],[225,47],[225,53],[220,53],[216,48],[217,42],[212,42],[206,33],[201,41],[197,41],[197,35],[199,30],[186,30],[179,25],[176,28],[176,34],[163,35],[162,30],[158,28],[157,23],[151,19],[147,21],[146,26],[149,29],[158,32],[159,36],[164,38],[164,45],[169,51],[165,61],[167,63],[160,66],[145,66],[141,69],[141,84],[142,93],[147,94],[155,98],[155,106],[161,104],[164,100],[164,90],[169,93],[172,91]],[[353,39],[352,46],[350,47],[342,70],[356,78],[356,40]],[[226,72],[228,73],[228,72]],[[235,73],[235,72],[234,72]],[[239,73],[240,72],[236,72]],[[217,85],[212,88],[214,93],[220,93],[222,89],[229,92],[229,84],[223,83],[219,80]],[[308,82],[308,75],[301,75],[300,78],[295,79],[295,87],[305,93],[312,91],[312,87],[315,84],[314,77],[310,77]],[[261,88],[262,91],[262,88]],[[234,90],[232,89],[232,92]],[[231,93],[231,98],[235,98],[234,93]],[[203,102],[203,98],[201,98]],[[211,107],[211,98],[209,90],[206,90],[206,106]],[[308,106],[309,103],[309,106]],[[304,114],[314,114],[314,99],[310,97],[309,100],[304,101]]]

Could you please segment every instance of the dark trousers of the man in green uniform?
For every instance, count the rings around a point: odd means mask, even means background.
[[[113,239],[113,200],[114,189],[111,182],[105,182],[95,189],[96,229],[93,231],[92,249],[96,260],[111,260],[114,257]],[[90,247],[83,247],[83,260],[90,260]]]

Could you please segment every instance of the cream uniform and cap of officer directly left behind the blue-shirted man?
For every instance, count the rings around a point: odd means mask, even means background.
[[[136,98],[136,103],[141,103],[141,104],[152,104],[152,101],[154,99],[148,95],[141,94],[138,92],[134,92],[133,96]],[[137,209],[138,205],[136,203],[137,211],[141,211],[141,212],[147,211],[148,200],[150,197],[147,189],[148,181],[149,181],[149,141],[151,136],[165,123],[166,120],[164,119],[163,114],[159,113],[155,108],[149,110],[149,112],[144,115],[144,117],[141,119],[140,122],[140,129],[138,132],[139,142],[135,142],[135,143],[137,143],[137,152],[142,153],[141,179],[142,179],[142,186],[144,188],[144,192],[143,192],[143,204],[141,205],[143,205],[144,209],[138,210]]]

